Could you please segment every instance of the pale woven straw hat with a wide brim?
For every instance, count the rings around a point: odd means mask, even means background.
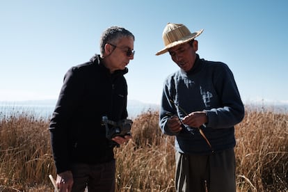
[[[180,45],[185,42],[189,42],[198,37],[202,33],[203,29],[191,33],[184,24],[171,24],[168,23],[163,31],[162,38],[165,45],[164,49],[161,49],[156,53],[157,56],[165,54],[168,49]]]

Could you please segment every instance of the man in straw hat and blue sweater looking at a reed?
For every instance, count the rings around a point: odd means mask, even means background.
[[[175,136],[177,191],[236,191],[234,125],[244,117],[237,84],[225,63],[200,58],[203,30],[168,23],[165,47],[179,66],[163,85],[160,127]]]

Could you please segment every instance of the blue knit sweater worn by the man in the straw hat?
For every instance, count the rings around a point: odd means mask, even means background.
[[[197,55],[191,71],[171,74],[163,86],[160,127],[164,134],[175,135],[175,148],[186,154],[209,154],[211,148],[195,127],[177,134],[166,126],[171,114],[180,119],[186,113],[206,111],[208,123],[202,131],[214,152],[235,146],[234,125],[244,117],[244,107],[234,76],[225,63],[205,61]]]

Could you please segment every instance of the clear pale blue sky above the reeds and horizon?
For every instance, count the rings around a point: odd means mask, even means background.
[[[288,103],[288,1],[0,1],[0,101],[57,99],[65,72],[99,53],[109,26],[136,37],[128,99],[159,104],[178,70],[163,48],[168,22],[185,24],[200,58],[223,61],[243,102]]]

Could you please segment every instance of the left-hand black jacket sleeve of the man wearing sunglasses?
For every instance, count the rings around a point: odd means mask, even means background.
[[[63,86],[49,124],[51,149],[57,173],[70,170],[67,150],[68,129],[70,128],[69,122],[72,113],[77,107],[77,97],[81,93],[80,88],[77,72],[72,67],[65,74]]]

